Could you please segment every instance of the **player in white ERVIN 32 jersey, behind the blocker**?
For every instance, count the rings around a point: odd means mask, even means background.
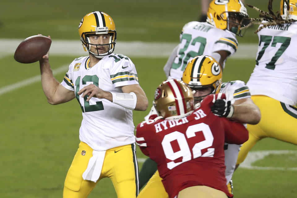
[[[237,39],[242,36],[239,28],[248,21],[247,10],[240,0],[215,1],[208,7],[207,22],[192,21],[184,25],[180,34],[180,44],[172,51],[164,72],[168,79],[181,79],[187,62],[195,56],[206,54],[217,60],[224,68],[226,58],[236,52]],[[145,119],[148,119],[146,116]],[[157,169],[156,164],[147,159],[139,173],[140,188],[147,183]]]

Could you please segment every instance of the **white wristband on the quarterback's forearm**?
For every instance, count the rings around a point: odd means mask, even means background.
[[[124,108],[134,110],[136,107],[137,97],[134,92],[130,93],[114,93],[112,94],[112,102]]]

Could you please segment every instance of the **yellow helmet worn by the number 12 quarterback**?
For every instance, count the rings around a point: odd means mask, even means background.
[[[93,54],[97,58],[103,58],[106,55],[111,54],[114,51],[115,42],[117,40],[117,32],[115,31],[114,20],[110,15],[95,11],[90,12],[81,19],[78,26],[78,32],[80,34],[80,40],[83,43],[84,50]],[[110,41],[108,44],[92,44],[89,36],[94,34],[110,34]],[[90,51],[91,45],[95,45],[97,48],[100,45],[109,45],[108,51],[104,54],[94,54]]]

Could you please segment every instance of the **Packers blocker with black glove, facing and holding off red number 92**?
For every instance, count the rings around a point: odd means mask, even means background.
[[[222,84],[221,67],[212,57],[206,55],[194,57],[187,64],[182,80],[194,90],[195,103],[199,103],[209,94],[224,93],[226,95],[226,100],[217,100],[214,102],[211,109],[214,114],[241,123],[259,123],[261,117],[260,110],[251,100],[251,95],[246,84],[240,80]],[[154,108],[152,110],[151,114],[157,114]],[[230,181],[235,169],[240,146],[237,144],[225,144],[225,175],[226,184],[230,183],[228,186],[230,192],[232,188]],[[149,167],[147,168],[150,169]],[[152,176],[138,197],[147,198],[155,196],[155,192],[159,193],[158,197],[168,197],[162,186],[158,171]]]

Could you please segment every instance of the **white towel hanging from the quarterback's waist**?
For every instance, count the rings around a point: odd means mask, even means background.
[[[101,174],[105,152],[93,150],[93,156],[89,159],[88,167],[83,173],[84,180],[97,182]]]

